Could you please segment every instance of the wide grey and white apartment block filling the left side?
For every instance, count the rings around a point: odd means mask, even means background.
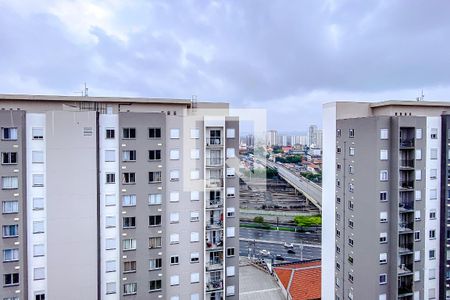
[[[238,299],[224,103],[0,95],[0,299]]]

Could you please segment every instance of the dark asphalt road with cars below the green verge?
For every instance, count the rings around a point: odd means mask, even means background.
[[[294,244],[295,254],[287,253],[283,243]],[[309,244],[306,244],[308,242]],[[240,229],[239,255],[258,257],[261,250],[267,250],[271,255],[281,255],[286,261],[298,261],[309,259],[320,259],[321,248],[320,237],[317,235],[301,234],[296,232],[273,231],[253,228]],[[303,245],[303,253],[301,251]],[[270,257],[265,257],[270,258]]]

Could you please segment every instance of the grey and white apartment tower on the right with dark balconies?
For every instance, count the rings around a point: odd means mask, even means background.
[[[449,110],[324,105],[323,299],[450,299]]]

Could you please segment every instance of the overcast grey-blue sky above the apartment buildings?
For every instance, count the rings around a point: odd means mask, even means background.
[[[37,4],[39,3],[39,4]],[[229,101],[269,127],[334,100],[450,99],[450,1],[0,0],[0,93]]]

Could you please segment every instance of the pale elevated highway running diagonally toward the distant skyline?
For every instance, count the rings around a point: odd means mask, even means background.
[[[283,165],[271,162],[271,161],[262,161],[258,159],[263,165],[267,165],[268,167],[274,168],[278,171],[278,174],[286,180],[290,185],[292,185],[295,189],[300,191],[305,197],[311,201],[317,208],[322,210],[322,188],[317,184],[309,181],[306,178],[299,177],[296,174],[292,173],[289,169],[284,167]]]

